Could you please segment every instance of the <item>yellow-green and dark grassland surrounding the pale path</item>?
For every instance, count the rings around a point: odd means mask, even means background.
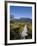
[[[10,23],[10,40],[20,39],[20,32],[23,31],[25,25],[28,25],[29,32],[27,39],[32,38],[32,23],[31,22],[14,22]]]

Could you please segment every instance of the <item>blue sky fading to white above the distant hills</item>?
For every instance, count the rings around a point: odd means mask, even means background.
[[[14,15],[14,18],[30,18],[32,19],[32,7],[26,6],[10,6],[10,15]]]

